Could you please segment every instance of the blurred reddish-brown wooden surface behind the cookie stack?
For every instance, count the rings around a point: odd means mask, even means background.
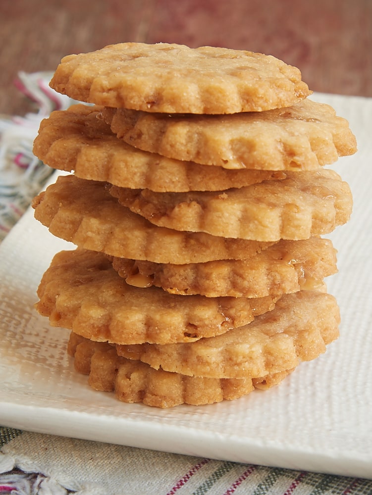
[[[30,108],[19,71],[120,42],[272,54],[314,91],[372,97],[372,0],[1,0],[0,113]]]

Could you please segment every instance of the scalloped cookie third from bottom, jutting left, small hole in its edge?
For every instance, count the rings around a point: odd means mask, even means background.
[[[102,253],[57,253],[38,288],[38,312],[52,326],[99,342],[192,342],[251,322],[277,297],[183,297],[132,287]]]

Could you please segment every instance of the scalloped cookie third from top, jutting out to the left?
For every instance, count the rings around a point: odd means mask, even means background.
[[[49,166],[77,177],[151,191],[218,191],[256,184],[281,172],[227,170],[174,160],[126,144],[100,116],[102,107],[72,105],[41,122],[34,154]]]

